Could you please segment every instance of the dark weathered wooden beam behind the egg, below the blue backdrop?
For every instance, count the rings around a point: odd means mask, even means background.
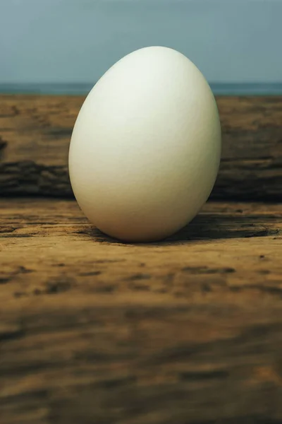
[[[0,194],[72,196],[68,146],[84,98],[1,95]],[[282,199],[282,98],[217,98],[223,160],[214,199]]]

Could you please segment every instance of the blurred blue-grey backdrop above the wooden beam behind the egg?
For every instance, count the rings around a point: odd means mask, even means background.
[[[0,0],[0,92],[84,94],[125,54],[165,45],[216,94],[281,94],[281,23],[281,0]]]

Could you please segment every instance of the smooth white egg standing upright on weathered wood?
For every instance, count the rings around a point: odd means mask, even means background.
[[[221,126],[207,81],[183,54],[147,47],[118,61],[75,122],[75,198],[102,232],[161,240],[195,217],[219,170]]]

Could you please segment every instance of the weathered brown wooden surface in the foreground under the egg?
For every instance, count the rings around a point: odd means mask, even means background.
[[[282,422],[282,205],[123,245],[72,200],[0,202],[1,424]]]

